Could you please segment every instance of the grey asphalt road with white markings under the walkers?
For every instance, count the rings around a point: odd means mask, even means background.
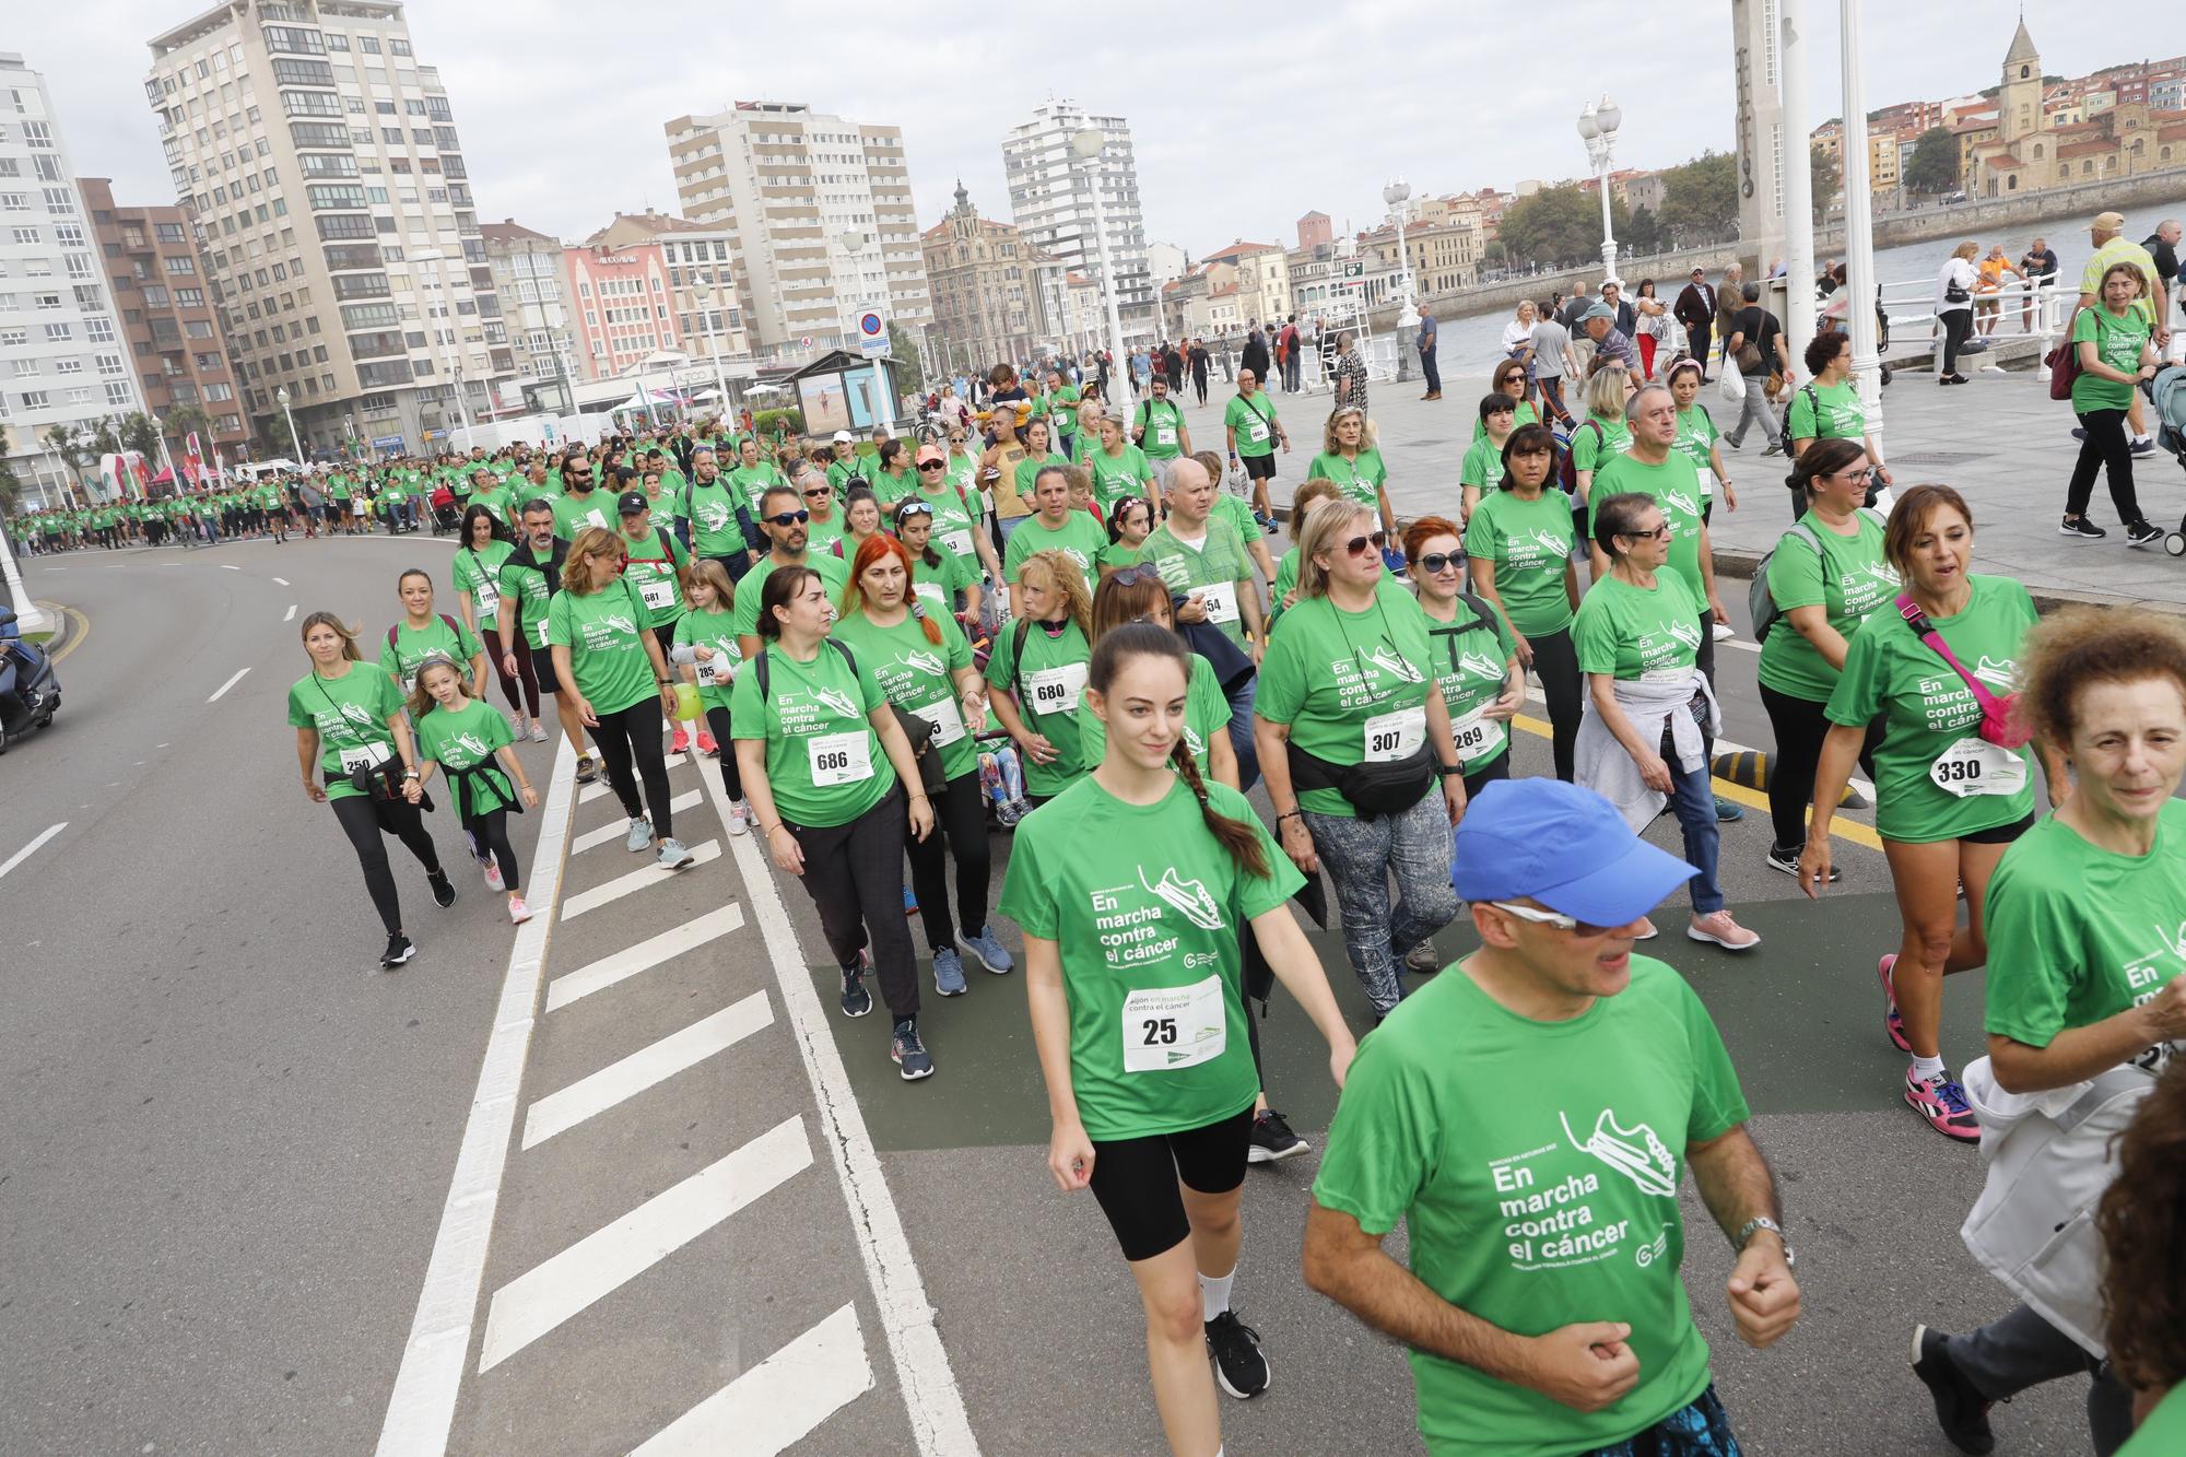
[[[901,1083],[885,1017],[835,1013],[804,893],[726,836],[713,761],[671,779],[695,796],[680,838],[717,858],[625,882],[640,860],[612,799],[575,794],[555,746],[525,746],[553,783],[516,823],[533,884],[533,840],[568,831],[542,960],[516,965],[474,875],[437,912],[411,866],[422,952],[376,971],[354,858],[295,783],[284,693],[304,654],[284,617],[330,606],[376,641],[402,567],[433,569],[446,604],[446,553],[372,538],[26,564],[90,632],[61,663],[55,728],[0,759],[0,862],[66,825],[0,879],[17,949],[0,1019],[4,1446],[1161,1450],[1130,1280],[1093,1201],[1043,1166],[1019,978],[973,969],[949,1002],[927,982],[940,1070]],[[1766,746],[1751,658],[1718,652],[1727,735]],[[1519,770],[1546,761],[1521,735]],[[1764,844],[1758,809],[1727,827],[1758,952],[1677,939],[1674,906],[1650,949],[1725,1030],[1784,1181],[1806,1319],[1773,1352],[1729,1337],[1729,1260],[1688,1199],[1694,1306],[1749,1450],[1946,1453],[1904,1348],[1915,1319],[1963,1328],[2009,1304],[1956,1238],[1978,1162],[1895,1098],[1880,855],[1847,842],[1845,884],[1814,908]],[[1316,945],[1364,1028],[1338,941]],[[1952,982],[1954,1059],[1978,1048],[1978,974]],[[1316,1039],[1281,1000],[1266,1035],[1270,1094],[1318,1142],[1333,1087]],[[1417,1450],[1399,1352],[1298,1282],[1312,1173],[1305,1157],[1248,1179],[1237,1308],[1274,1387],[1224,1400],[1231,1450]],[[2085,1450],[2079,1402],[2057,1383],[2000,1407],[2005,1450]]]

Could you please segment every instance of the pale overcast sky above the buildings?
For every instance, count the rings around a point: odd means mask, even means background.
[[[1727,151],[1727,9],[411,0],[409,24],[418,59],[448,88],[481,221],[514,217],[575,241],[619,208],[673,212],[662,123],[754,98],[901,125],[920,228],[940,221],[957,177],[984,214],[1008,219],[1001,138],[1041,101],[1067,96],[1130,120],[1148,238],[1200,256],[1237,236],[1294,243],[1296,217],[1314,208],[1338,230],[1366,228],[1386,212],[1392,175],[1414,197],[1572,177],[1587,166],[1574,120],[1605,88],[1624,107],[1620,166]],[[171,201],[144,42],[199,11],[190,0],[9,4],[0,48],[46,72],[74,166],[114,177],[122,201]],[[1808,13],[1819,123],[1841,112],[1836,0],[1808,0]],[[1869,0],[1869,109],[1994,85],[2013,20],[2015,4],[2000,0]],[[2083,4],[2029,0],[2026,26],[2053,74],[2147,59],[2127,39],[2147,26],[2088,26]],[[1541,55],[1530,77],[1519,37]],[[1578,83],[1589,66],[1596,77]]]

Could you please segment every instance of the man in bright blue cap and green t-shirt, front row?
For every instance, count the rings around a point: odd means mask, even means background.
[[[1679,1278],[1688,1164],[1738,1249],[1738,1334],[1771,1345],[1799,1319],[1723,1037],[1633,956],[1688,875],[1591,790],[1491,783],[1452,873],[1480,949],[1360,1044],[1305,1282],[1410,1348],[1430,1453],[1738,1450]],[[1382,1249],[1399,1219],[1410,1269]]]

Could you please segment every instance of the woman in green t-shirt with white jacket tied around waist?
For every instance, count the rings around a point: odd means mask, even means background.
[[[1615,805],[1635,834],[1668,801],[1685,836],[1685,864],[1694,869],[1685,882],[1692,895],[1685,936],[1749,952],[1762,939],[1731,917],[1716,877],[1723,836],[1709,757],[1723,713],[1699,667],[1699,604],[1685,575],[1668,567],[1670,527],[1655,497],[1629,490],[1596,501],[1594,545],[1609,558],[1609,573],[1572,619],[1591,707],[1578,724],[1574,783]]]

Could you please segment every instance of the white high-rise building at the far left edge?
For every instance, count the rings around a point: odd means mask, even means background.
[[[24,499],[61,499],[50,429],[142,407],[46,77],[0,50],[0,431]]]

